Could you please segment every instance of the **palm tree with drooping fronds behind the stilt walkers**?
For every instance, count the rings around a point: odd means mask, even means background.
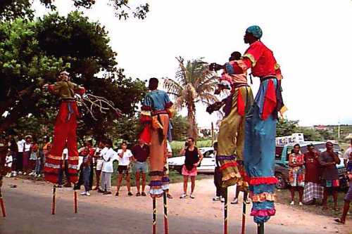
[[[218,79],[214,72],[208,70],[208,64],[202,58],[188,60],[184,64],[182,57],[176,58],[179,70],[175,79],[165,79],[164,87],[175,98],[177,109],[187,108],[189,122],[188,135],[197,138],[196,103],[210,104],[218,101],[213,95]]]

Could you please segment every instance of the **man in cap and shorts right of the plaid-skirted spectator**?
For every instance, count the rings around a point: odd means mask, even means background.
[[[327,209],[327,196],[332,193],[334,199],[334,210],[337,210],[337,188],[339,188],[339,172],[336,164],[341,161],[337,153],[334,152],[334,145],[331,142],[325,144],[327,150],[322,152],[319,157],[322,171],[322,185],[324,186],[324,195],[322,198],[322,209]]]

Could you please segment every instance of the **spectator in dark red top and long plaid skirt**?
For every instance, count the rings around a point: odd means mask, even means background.
[[[315,151],[314,145],[307,145],[308,152],[304,154],[306,162],[306,184],[303,191],[303,202],[305,204],[315,204],[317,199],[322,199],[324,188],[320,185],[321,167],[319,164],[319,154]]]

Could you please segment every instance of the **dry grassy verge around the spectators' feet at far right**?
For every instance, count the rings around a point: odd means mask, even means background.
[[[291,202],[291,194],[289,192],[289,189],[284,189],[284,190],[276,190],[276,195],[277,195],[277,202],[280,204],[287,204],[289,205],[289,203]],[[320,215],[324,215],[324,216],[331,216],[331,217],[336,217],[339,218],[341,216],[342,213],[342,209],[344,208],[344,197],[346,195],[345,191],[339,191],[339,195],[338,195],[338,211],[335,212],[333,208],[334,206],[334,202],[332,201],[332,196],[329,197],[328,201],[327,201],[327,207],[329,207],[329,209],[323,211],[322,210],[322,206],[321,206],[321,201],[319,201],[320,203],[318,203],[318,205],[306,205],[303,204],[303,206],[299,206],[298,205],[298,192],[296,192],[295,194],[295,204],[294,209],[300,209],[303,210],[305,212],[310,212],[310,213],[314,213],[314,214],[320,214]],[[352,212],[350,212],[347,215],[347,219],[352,219]]]

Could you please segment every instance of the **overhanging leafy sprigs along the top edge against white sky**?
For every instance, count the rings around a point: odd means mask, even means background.
[[[37,0],[46,8],[55,10],[55,0]],[[76,8],[92,8],[96,0],[72,0]],[[0,1],[0,20],[14,20],[15,18],[34,18],[32,4],[34,0],[1,0]],[[144,19],[149,12],[149,4],[131,6],[128,0],[108,0],[108,4],[115,10],[115,15],[119,19],[127,19],[130,15],[134,18]]]

